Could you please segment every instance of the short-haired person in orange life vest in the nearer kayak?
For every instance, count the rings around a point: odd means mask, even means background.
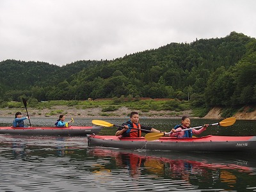
[[[140,138],[141,132],[161,132],[153,127],[141,125],[139,123],[139,113],[136,111],[132,111],[130,114],[130,120],[122,125],[124,127],[119,127],[115,136],[122,135],[123,138]]]

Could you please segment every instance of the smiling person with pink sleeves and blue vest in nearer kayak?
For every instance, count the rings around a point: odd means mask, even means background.
[[[171,131],[172,133],[170,134],[170,136],[171,137],[177,137],[177,138],[191,138],[193,136],[193,134],[201,134],[208,127],[208,124],[205,124],[204,127],[202,127],[199,130],[190,129],[190,130],[182,131],[184,129],[189,129],[189,125],[190,125],[189,117],[188,116],[182,116],[181,125],[176,125],[172,129],[172,131]]]

